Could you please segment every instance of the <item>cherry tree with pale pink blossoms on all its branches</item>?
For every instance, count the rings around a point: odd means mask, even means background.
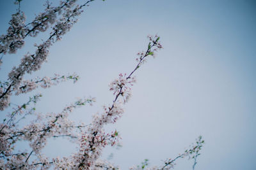
[[[20,60],[17,67],[13,67],[8,74],[8,80],[1,81],[0,89],[0,110],[4,111],[10,106],[10,98],[13,94],[26,94],[38,87],[49,88],[61,81],[73,80],[74,83],[79,79],[76,74],[68,76],[55,74],[53,77],[36,78],[35,80],[24,80],[26,74],[31,74],[40,69],[47,59],[49,48],[59,41],[62,36],[70,31],[72,25],[77,22],[77,17],[94,0],[86,3],[77,0],[60,1],[59,6],[52,6],[49,1],[45,3],[45,11],[36,15],[35,19],[26,24],[24,12],[20,10],[21,0],[15,1],[19,6],[17,13],[12,15],[10,27],[7,33],[0,37],[0,53],[16,53],[22,48],[28,36],[36,37],[40,32],[49,31],[49,37],[42,41],[40,45],[35,45],[35,53],[26,53]],[[115,124],[118,118],[124,113],[123,105],[127,103],[131,96],[132,85],[136,82],[134,74],[146,62],[148,57],[155,56],[156,52],[162,47],[159,36],[148,36],[148,45],[145,52],[139,52],[136,58],[137,64],[130,73],[120,73],[118,78],[109,85],[109,90],[113,92],[113,103],[104,106],[102,113],[93,116],[92,123],[89,125],[72,122],[68,115],[77,107],[93,104],[95,98],[87,97],[63,108],[60,113],[42,114],[38,113],[33,103],[37,103],[42,94],[29,97],[29,100],[13,108],[11,113],[6,113],[3,123],[0,125],[1,145],[1,169],[116,169],[117,167],[100,160],[102,149],[107,146],[116,145],[120,134],[118,131],[105,132],[108,124]],[[35,117],[30,123],[22,127],[19,126],[20,120],[28,118],[28,115]],[[72,141],[77,141],[79,150],[70,157],[54,158],[50,160],[42,154],[42,150],[49,138],[68,137]],[[17,143],[27,141],[29,151],[22,150],[17,152]],[[204,140],[200,136],[196,144],[191,146],[184,153],[175,159],[167,159],[161,167],[152,169],[170,169],[174,166],[175,160],[189,157],[194,160],[200,155],[200,150]],[[21,149],[21,148],[19,148]],[[141,166],[132,169],[144,169],[148,166],[145,160]]]

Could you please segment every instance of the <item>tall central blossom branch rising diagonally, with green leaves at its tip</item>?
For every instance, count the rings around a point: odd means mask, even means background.
[[[99,159],[102,148],[108,144],[102,142],[102,139],[104,139],[102,136],[105,134],[104,126],[114,124],[118,118],[122,117],[124,113],[122,105],[131,96],[131,86],[135,82],[135,78],[132,75],[145,62],[148,56],[154,55],[154,52],[162,48],[159,43],[159,36],[148,36],[148,38],[150,42],[148,43],[147,51],[140,53],[140,58],[137,60],[138,64],[133,71],[130,74],[119,74],[119,78],[111,82],[109,90],[115,95],[113,104],[109,107],[105,106],[104,112],[101,115],[95,114],[93,116],[92,124],[81,138],[79,153],[76,153],[72,158],[71,162],[74,167],[78,169],[91,169],[95,167],[95,161]]]

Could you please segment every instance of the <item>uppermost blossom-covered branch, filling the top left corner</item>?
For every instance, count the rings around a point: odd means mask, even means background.
[[[17,11],[12,15],[10,27],[5,35],[0,36],[0,53],[16,53],[17,49],[24,46],[27,36],[35,37],[39,32],[46,31],[50,25],[58,22],[58,16],[63,13],[72,12],[72,7],[77,5],[78,0],[60,1],[60,6],[51,6],[47,1],[45,11],[36,15],[35,19],[28,24],[24,12]],[[94,0],[93,0],[94,1]],[[18,2],[20,4],[20,0]]]

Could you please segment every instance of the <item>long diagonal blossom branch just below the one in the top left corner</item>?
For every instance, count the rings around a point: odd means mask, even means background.
[[[0,89],[0,110],[4,110],[10,103],[10,96],[12,91],[19,89],[20,83],[25,73],[32,73],[40,69],[43,62],[45,62],[49,53],[50,46],[56,41],[61,39],[61,36],[70,31],[72,25],[77,22],[77,16],[83,12],[82,8],[88,6],[88,3],[94,0],[87,1],[82,5],[77,5],[74,8],[66,10],[62,17],[54,25],[53,32],[49,38],[41,45],[36,45],[37,50],[34,54],[27,53],[21,59],[18,67],[13,67],[12,71],[8,74],[8,86]],[[72,6],[73,7],[73,6]]]

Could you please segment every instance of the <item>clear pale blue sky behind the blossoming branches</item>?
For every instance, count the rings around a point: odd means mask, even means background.
[[[42,11],[43,2],[22,1],[28,22]],[[0,34],[6,33],[16,9],[13,1],[0,2]],[[45,34],[28,38],[16,54],[4,55],[1,81]],[[77,73],[81,79],[13,96],[12,102],[21,104],[42,92],[36,110],[49,113],[61,111],[76,97],[96,97],[92,107],[79,108],[71,116],[89,123],[93,113],[113,101],[109,83],[134,69],[136,53],[147,48],[148,34],[159,35],[164,48],[136,72],[138,81],[124,116],[108,127],[120,132],[122,147],[106,148],[102,157],[113,153],[109,161],[122,169],[144,159],[158,166],[202,135],[205,145],[197,170],[256,169],[255,1],[95,1],[51,47],[40,71],[26,76]],[[44,152],[68,155],[76,147],[56,139]],[[192,165],[193,160],[183,159],[175,169]]]

